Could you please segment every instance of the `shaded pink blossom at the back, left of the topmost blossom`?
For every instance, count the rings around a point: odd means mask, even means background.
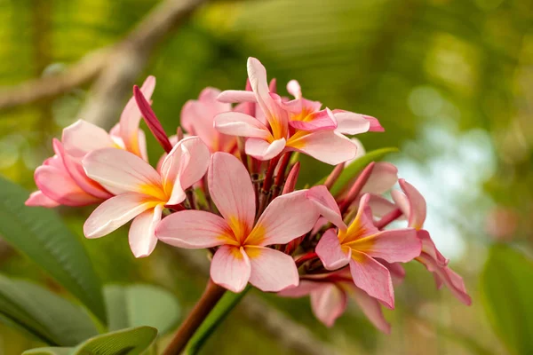
[[[205,88],[197,100],[188,100],[181,109],[181,125],[191,135],[200,137],[215,152],[233,153],[237,139],[215,130],[213,121],[217,114],[231,111],[231,105],[217,100],[220,91]]]

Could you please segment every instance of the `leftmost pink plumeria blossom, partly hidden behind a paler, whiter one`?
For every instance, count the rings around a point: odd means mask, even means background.
[[[155,77],[148,76],[141,91],[150,98]],[[113,147],[127,150],[147,161],[144,132],[139,130],[141,115],[135,99],[123,109],[120,122],[107,133],[98,126],[78,120],[63,130],[61,141],[53,140],[54,155],[35,172],[38,191],[31,193],[28,206],[85,206],[107,200],[113,193],[87,177],[82,167],[84,156],[97,149]]]

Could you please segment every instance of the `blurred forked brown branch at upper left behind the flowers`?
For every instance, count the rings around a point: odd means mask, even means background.
[[[116,118],[125,93],[131,91],[155,45],[204,3],[207,0],[163,1],[148,12],[123,41],[92,51],[59,75],[0,88],[0,110],[50,99],[96,78],[91,89],[94,97],[88,99],[82,114],[88,121],[107,125],[108,117]],[[104,98],[107,100],[102,105]],[[99,114],[102,117],[98,117]]]

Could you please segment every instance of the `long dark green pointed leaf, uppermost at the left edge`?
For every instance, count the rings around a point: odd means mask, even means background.
[[[53,210],[25,206],[28,195],[0,177],[0,235],[105,321],[101,283],[83,244]]]

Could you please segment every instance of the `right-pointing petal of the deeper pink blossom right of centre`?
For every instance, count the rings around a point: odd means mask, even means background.
[[[367,256],[379,257],[389,263],[408,263],[422,251],[417,231],[412,228],[380,232],[346,245]]]

